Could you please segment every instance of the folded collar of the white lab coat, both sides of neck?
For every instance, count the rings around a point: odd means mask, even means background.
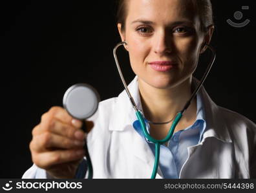
[[[193,78],[193,84],[198,84],[197,78]],[[142,103],[140,101],[140,92],[138,90],[138,77],[136,76],[128,86],[134,102],[138,109],[143,112]],[[215,137],[223,142],[232,142],[225,120],[213,100],[209,97],[208,93],[202,86],[200,89],[202,96],[202,105],[204,106],[206,116],[206,130],[202,136],[202,142],[208,137]],[[125,113],[123,113],[125,112]],[[116,104],[114,106],[114,113],[110,120],[110,131],[123,131],[125,128],[133,128],[133,122],[136,121],[136,115],[131,102],[125,90],[118,95]],[[131,125],[131,127],[126,127]],[[201,143],[202,143],[201,142]]]

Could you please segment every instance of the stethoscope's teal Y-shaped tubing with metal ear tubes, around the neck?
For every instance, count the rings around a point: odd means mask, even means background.
[[[140,122],[140,125],[142,127],[143,133],[145,138],[147,138],[147,140],[149,140],[149,142],[153,142],[155,143],[155,164],[154,164],[154,168],[153,168],[153,172],[151,175],[151,179],[155,179],[156,178],[156,172],[158,169],[158,164],[159,164],[159,157],[160,157],[160,145],[164,144],[165,142],[168,142],[170,140],[170,138],[173,136],[173,132],[175,131],[175,127],[178,124],[178,122],[180,121],[180,119],[182,118],[182,115],[184,114],[184,112],[186,111],[187,107],[189,107],[189,104],[191,103],[191,101],[193,100],[193,98],[195,97],[195,95],[197,95],[198,90],[200,89],[200,87],[202,87],[202,84],[204,83],[204,80],[206,80],[206,77],[209,74],[209,71],[211,70],[211,66],[213,66],[213,63],[215,61],[215,57],[216,57],[216,53],[215,50],[213,50],[213,48],[211,46],[209,46],[208,44],[205,44],[205,46],[207,46],[213,53],[213,57],[211,59],[211,62],[208,65],[208,68],[206,69],[206,72],[204,73],[204,76],[202,77],[202,79],[200,80],[197,88],[195,89],[195,91],[193,91],[191,98],[189,98],[189,100],[187,101],[187,103],[185,104],[184,108],[182,109],[182,111],[178,112],[175,116],[175,119],[173,120],[173,123],[171,124],[171,128],[169,129],[169,133],[167,134],[167,136],[165,136],[165,138],[163,140],[156,140],[155,138],[153,138],[152,136],[150,136],[150,134],[147,132],[146,126],[145,126],[145,122],[144,122],[144,118],[142,116],[142,113],[140,113],[140,111],[138,110],[133,96],[131,96],[131,93],[127,87],[127,84],[123,78],[123,74],[122,71],[120,69],[120,65],[118,63],[118,59],[116,57],[116,49],[119,46],[122,46],[123,44],[127,44],[127,42],[123,41],[118,43],[113,50],[114,53],[114,60],[116,62],[116,67],[118,68],[118,73],[120,75],[120,78],[123,82],[123,86],[125,87],[125,91],[127,93],[127,95],[129,96],[129,99],[131,101],[131,104],[136,112],[136,116]]]

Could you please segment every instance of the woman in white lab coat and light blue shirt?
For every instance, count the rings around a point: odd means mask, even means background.
[[[120,0],[118,31],[136,74],[129,89],[147,120],[167,122],[184,107],[213,30],[208,0]],[[87,144],[94,178],[150,178],[154,145],[145,140],[125,91],[100,102],[87,125],[93,127]],[[149,125],[151,136],[162,139],[171,122]],[[77,171],[86,172],[80,128],[61,107],[45,113],[32,132],[34,165],[23,178],[74,178]],[[161,145],[156,178],[255,178],[255,134],[253,122],[217,106],[202,88],[171,140]]]

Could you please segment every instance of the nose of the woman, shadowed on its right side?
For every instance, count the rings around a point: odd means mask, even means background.
[[[172,52],[171,35],[169,33],[165,31],[159,32],[153,41],[153,49],[156,54],[166,55]]]

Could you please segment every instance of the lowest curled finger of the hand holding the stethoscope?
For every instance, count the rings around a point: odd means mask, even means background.
[[[36,154],[32,157],[32,160],[38,167],[48,169],[52,165],[80,160],[84,155],[85,152],[83,149],[56,150]]]

